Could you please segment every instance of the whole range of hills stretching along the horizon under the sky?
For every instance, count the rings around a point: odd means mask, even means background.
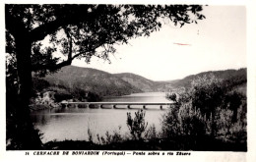
[[[109,74],[96,69],[68,66],[47,75],[43,80],[48,81],[51,86],[67,88],[73,92],[83,90],[99,96],[118,96],[136,92],[170,92],[179,87],[189,87],[191,81],[209,75],[214,75],[246,93],[246,68],[203,72],[175,81],[151,81],[131,73]]]

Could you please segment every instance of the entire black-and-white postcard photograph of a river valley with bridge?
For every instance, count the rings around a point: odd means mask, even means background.
[[[3,6],[5,151],[248,160],[245,5]]]

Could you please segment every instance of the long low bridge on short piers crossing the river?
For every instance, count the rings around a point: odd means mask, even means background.
[[[167,109],[173,102],[62,102],[65,108],[73,105],[75,108],[91,109]],[[121,106],[121,107],[120,107]],[[154,108],[152,108],[154,106]]]

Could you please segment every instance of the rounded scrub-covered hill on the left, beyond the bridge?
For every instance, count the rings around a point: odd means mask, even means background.
[[[51,85],[65,86],[69,89],[83,89],[100,96],[142,92],[139,88],[109,73],[75,66],[63,67],[57,73],[47,75],[44,80]]]

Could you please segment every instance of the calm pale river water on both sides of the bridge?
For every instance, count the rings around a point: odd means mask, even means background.
[[[134,93],[118,97],[105,97],[103,102],[170,102],[164,92]],[[155,106],[156,107],[156,106]],[[154,108],[154,107],[152,107]],[[127,112],[132,117],[138,110],[134,109],[89,109],[89,108],[56,108],[32,113],[32,121],[42,135],[42,142],[50,140],[88,140],[90,129],[96,141],[96,135],[110,135],[114,131],[121,135],[129,135],[126,125]],[[166,110],[146,110],[146,122],[149,126],[155,125],[160,131],[161,115]]]

